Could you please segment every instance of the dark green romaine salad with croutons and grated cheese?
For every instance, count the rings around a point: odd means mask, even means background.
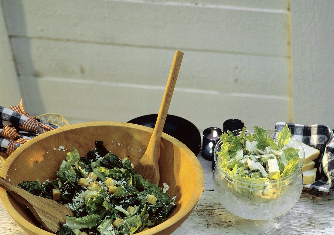
[[[73,212],[58,235],[130,235],[164,222],[175,207],[164,189],[151,184],[133,170],[128,157],[120,159],[102,141],[80,157],[73,148],[67,153],[58,179],[21,182],[28,192],[59,201]]]

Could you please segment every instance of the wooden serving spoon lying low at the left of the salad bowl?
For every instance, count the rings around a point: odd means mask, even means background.
[[[57,201],[35,196],[1,176],[0,186],[16,200],[26,205],[42,226],[51,233],[57,232],[61,223],[66,222],[66,215],[74,216],[70,209]]]

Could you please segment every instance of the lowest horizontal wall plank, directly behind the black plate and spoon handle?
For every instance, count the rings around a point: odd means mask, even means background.
[[[157,113],[165,87],[75,79],[21,77],[26,109],[31,115],[58,113],[65,119],[127,122]],[[287,99],[243,93],[198,92],[176,85],[169,114],[183,117],[202,132],[209,126],[222,128],[229,118],[248,127],[274,128],[287,120]]]

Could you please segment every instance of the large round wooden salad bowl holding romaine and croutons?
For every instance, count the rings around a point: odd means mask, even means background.
[[[22,181],[54,180],[66,152],[77,148],[86,156],[102,140],[119,157],[129,156],[134,165],[145,153],[153,129],[122,122],[88,122],[64,126],[41,134],[16,149],[6,160],[0,175],[14,184]],[[63,146],[65,151],[58,151]],[[55,150],[54,150],[55,149]],[[67,149],[67,150],[66,150]],[[175,210],[168,219],[140,235],[174,232],[196,206],[204,185],[203,169],[192,151],[177,139],[162,133],[159,154],[160,183],[169,185],[171,197],[177,195]],[[38,226],[31,212],[0,188],[1,201],[11,217],[30,235],[51,235]]]

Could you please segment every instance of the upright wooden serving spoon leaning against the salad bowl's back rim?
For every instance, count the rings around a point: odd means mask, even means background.
[[[172,67],[169,72],[169,77],[165,89],[165,93],[161,102],[157,122],[155,124],[153,134],[147,149],[143,157],[139,160],[135,167],[135,171],[143,176],[144,179],[148,179],[151,183],[159,185],[160,173],[158,165],[158,154],[161,141],[162,130],[165,125],[167,112],[170,101],[172,99],[177,75],[180,71],[180,66],[183,58],[183,52],[176,51],[172,63]]]

